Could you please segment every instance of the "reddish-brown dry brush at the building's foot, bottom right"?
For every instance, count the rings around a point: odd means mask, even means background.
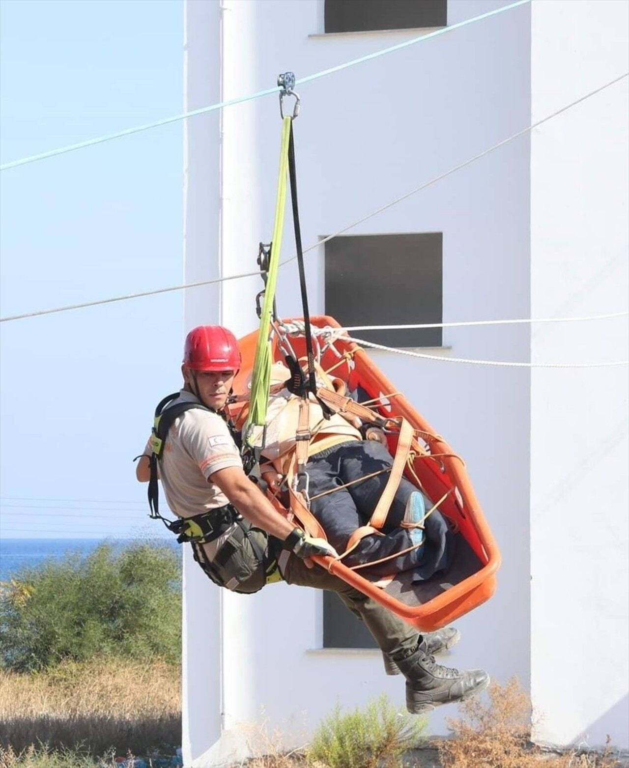
[[[609,746],[602,754],[557,755],[531,744],[531,701],[515,678],[492,684],[488,695],[488,703],[462,703],[462,717],[448,720],[453,738],[439,743],[444,768],[620,768]]]

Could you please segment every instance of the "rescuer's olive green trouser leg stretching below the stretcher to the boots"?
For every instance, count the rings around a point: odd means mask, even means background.
[[[287,584],[336,592],[349,610],[364,621],[379,648],[393,659],[402,659],[417,647],[417,630],[343,579],[328,573],[325,568],[319,565],[307,568],[303,560],[293,554],[286,563],[283,577]]]

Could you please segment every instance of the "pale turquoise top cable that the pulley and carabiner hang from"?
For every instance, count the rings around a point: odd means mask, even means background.
[[[297,78],[296,85],[303,85],[305,83],[310,83],[314,80],[318,80],[319,78],[324,78],[328,74],[334,74],[335,72],[342,71],[343,69],[348,69],[349,67],[353,67],[358,64],[363,64],[364,61],[371,61],[374,58],[379,58],[380,56],[384,56],[389,53],[394,53],[395,51],[399,51],[402,48],[408,48],[409,45],[415,45],[415,43],[419,43],[422,40],[435,38],[438,35],[445,35],[446,32],[451,32],[455,29],[460,29],[470,24],[475,24],[475,22],[481,22],[485,18],[489,18],[490,16],[495,16],[498,13],[502,13],[505,11],[510,11],[512,8],[518,8],[519,5],[525,5],[528,2],[531,2],[531,0],[518,0],[518,2],[511,3],[511,5],[504,5],[502,8],[495,8],[495,10],[489,11],[488,13],[483,13],[481,15],[474,16],[473,18],[468,18],[464,22],[459,22],[449,27],[443,27],[442,29],[437,29],[434,32],[429,32],[427,35],[418,35],[418,37],[412,38],[411,40],[406,40],[405,42],[399,43],[398,45],[391,45],[389,48],[382,48],[381,50],[374,51],[374,53],[368,54],[366,56],[361,56],[359,58],[352,59],[352,61],[346,61],[344,64],[339,64],[336,67],[330,67],[329,69],[324,69],[322,71],[316,72],[315,74],[309,74],[305,78]],[[70,144],[68,145],[68,147],[60,147],[58,149],[50,150],[48,152],[42,152],[41,154],[33,154],[28,157],[22,157],[20,160],[14,160],[14,161],[0,165],[0,170],[9,170],[11,168],[16,168],[20,165],[35,163],[36,161],[39,161],[39,160],[47,160],[49,157],[56,157],[57,155],[60,155],[60,154],[66,154],[68,152],[74,152],[79,149],[84,149],[85,147],[94,147],[96,144],[104,144],[105,141],[113,141],[114,139],[122,138],[124,136],[139,134],[142,131],[149,131],[152,128],[169,125],[171,123],[176,123],[181,120],[186,120],[187,118],[194,118],[199,114],[207,114],[209,112],[214,112],[218,109],[223,109],[224,107],[232,107],[235,104],[242,104],[244,101],[252,101],[253,99],[262,98],[263,96],[269,96],[270,94],[279,93],[281,90],[282,90],[281,86],[276,85],[274,88],[266,88],[264,91],[256,91],[255,93],[248,94],[247,96],[240,96],[238,98],[228,99],[227,101],[220,101],[217,104],[211,104],[209,107],[201,107],[199,109],[194,109],[191,111],[184,112],[183,114],[173,115],[170,118],[162,118],[161,120],[156,120],[151,123],[145,123],[144,125],[137,125],[132,128],[126,128],[124,131],[118,131],[117,133],[114,133],[114,134],[106,134],[104,136],[99,136],[94,139],[88,139],[88,141],[80,141],[78,142],[78,144]]]

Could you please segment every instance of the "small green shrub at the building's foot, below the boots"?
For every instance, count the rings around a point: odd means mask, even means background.
[[[426,722],[396,710],[385,695],[346,714],[337,704],[320,723],[307,756],[329,768],[397,768],[403,754],[422,741]]]

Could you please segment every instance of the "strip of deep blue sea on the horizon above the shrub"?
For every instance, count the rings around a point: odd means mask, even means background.
[[[0,538],[0,581],[9,581],[22,568],[37,566],[45,560],[63,560],[68,554],[84,556],[105,541],[116,548],[137,544],[137,539],[123,538]],[[180,550],[174,537],[160,538],[159,544]]]

